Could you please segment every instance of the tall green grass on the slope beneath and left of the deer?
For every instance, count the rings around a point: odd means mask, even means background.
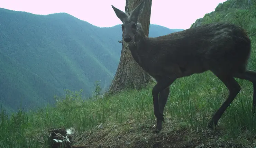
[[[253,44],[249,69],[256,70],[255,56]],[[223,135],[223,139],[226,140],[241,137],[245,130],[248,132],[246,135],[256,134],[256,118],[251,112],[252,84],[246,80],[236,80],[242,89],[219,121],[219,126],[225,127],[226,134]],[[38,109],[37,112],[19,110],[10,117],[2,109],[0,147],[37,148],[42,144],[46,146],[46,133],[49,128],[75,127],[82,133],[95,128],[99,123],[122,125],[134,119],[138,124],[149,124],[148,121],[155,120],[151,94],[153,85],[150,84],[143,90],[127,90],[103,98],[95,95],[98,99],[88,101],[81,97],[82,91],[67,91],[65,98],[56,97],[56,107],[47,106]],[[211,72],[180,78],[171,85],[164,111],[165,118],[179,128],[205,128],[227,95],[225,85]]]

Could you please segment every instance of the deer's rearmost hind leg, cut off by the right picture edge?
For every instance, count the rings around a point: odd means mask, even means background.
[[[256,72],[246,70],[244,73],[236,74],[235,77],[245,79],[253,83],[253,112],[256,109]]]

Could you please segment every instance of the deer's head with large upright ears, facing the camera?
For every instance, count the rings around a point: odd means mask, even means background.
[[[121,27],[123,31],[124,41],[126,43],[134,42],[135,35],[138,31],[137,25],[140,25],[137,23],[139,20],[139,16],[143,10],[144,3],[145,2],[143,0],[133,11],[131,11],[130,15],[111,5],[116,12],[117,17],[123,23]]]

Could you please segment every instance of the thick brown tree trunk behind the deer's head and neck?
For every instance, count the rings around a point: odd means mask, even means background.
[[[126,0],[125,11],[129,14],[141,1],[142,0]],[[139,22],[146,36],[148,36],[149,33],[151,5],[152,0],[145,0],[144,9],[139,17]],[[152,77],[150,77],[150,75],[137,64],[134,58],[132,58],[129,47],[122,44],[120,62],[116,75],[110,85],[109,93],[117,93],[125,89],[141,89],[151,81]]]

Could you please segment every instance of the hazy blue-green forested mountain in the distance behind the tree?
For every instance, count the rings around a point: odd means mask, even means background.
[[[150,25],[149,36],[179,30]],[[67,13],[34,15],[0,8],[0,103],[30,109],[64,89],[108,88],[121,53],[121,26],[100,28]]]

